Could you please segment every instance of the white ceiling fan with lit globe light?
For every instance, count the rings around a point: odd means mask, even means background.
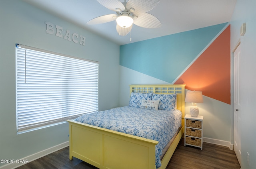
[[[116,20],[116,31],[119,35],[127,35],[132,25],[143,28],[159,28],[161,22],[153,15],[146,12],[152,10],[160,0],[97,0],[106,8],[115,11],[116,14],[99,16],[87,22],[87,24],[103,24]]]

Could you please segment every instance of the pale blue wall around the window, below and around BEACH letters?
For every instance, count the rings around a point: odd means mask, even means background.
[[[51,22],[86,37],[82,46],[46,33]],[[119,45],[21,0],[0,0],[0,159],[21,159],[68,141],[68,124],[16,132],[15,43],[99,61],[99,110],[119,105]],[[1,166],[2,164],[0,164]]]

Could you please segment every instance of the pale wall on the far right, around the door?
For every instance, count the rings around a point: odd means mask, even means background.
[[[240,37],[240,27],[246,23],[246,33]],[[241,41],[240,110],[241,116],[241,167],[256,168],[256,0],[237,0],[231,24],[231,52]],[[250,165],[247,161],[250,154]]]

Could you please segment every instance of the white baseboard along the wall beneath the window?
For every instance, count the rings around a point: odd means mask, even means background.
[[[68,147],[68,146],[69,146],[69,141],[66,141],[66,142],[61,143],[59,145],[55,145],[55,146],[50,147],[48,149],[45,149],[43,151],[39,151],[37,153],[34,153],[34,154],[29,155],[27,157],[24,157],[21,160],[28,161],[28,163],[30,163],[30,162],[32,162],[32,161],[34,161],[36,159],[44,157],[44,156],[46,156],[46,155],[48,155],[50,153],[53,153],[55,151],[58,151],[60,149]],[[6,164],[6,165],[1,166],[0,169],[14,169],[14,168],[20,167],[20,166],[22,166],[24,164],[26,164],[26,163],[22,163],[22,162],[19,162],[19,161],[17,163],[16,161],[14,161],[14,163]]]

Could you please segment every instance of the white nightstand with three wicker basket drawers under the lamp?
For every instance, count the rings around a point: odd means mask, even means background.
[[[185,117],[185,140],[184,145],[200,147],[203,150],[203,120],[204,116],[192,117],[187,114]]]

